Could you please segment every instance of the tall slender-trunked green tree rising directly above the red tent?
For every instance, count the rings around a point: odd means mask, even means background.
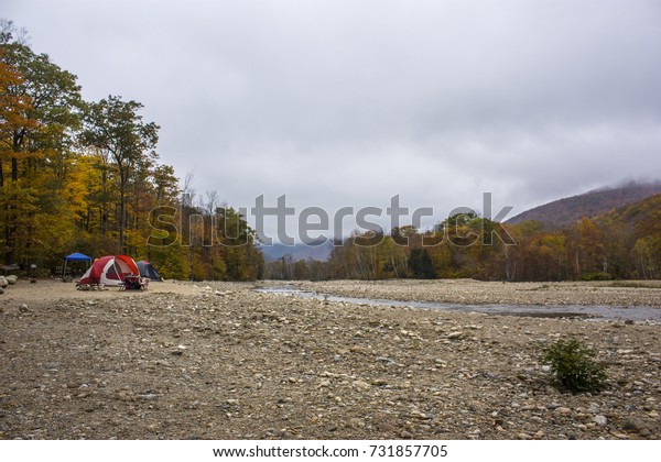
[[[119,248],[124,251],[127,228],[127,191],[130,180],[141,167],[158,157],[153,151],[159,141],[159,125],[145,123],[138,111],[142,105],[109,96],[87,105],[82,142],[102,153],[109,153],[118,169],[119,186]]]

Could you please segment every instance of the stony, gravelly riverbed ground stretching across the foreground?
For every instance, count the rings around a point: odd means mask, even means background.
[[[167,282],[137,293],[46,280],[10,286],[0,295],[0,438],[661,438],[654,322],[358,306],[252,290],[268,284]],[[661,305],[654,285],[301,286],[448,302]],[[608,365],[604,392],[551,386],[540,346],[570,337]]]

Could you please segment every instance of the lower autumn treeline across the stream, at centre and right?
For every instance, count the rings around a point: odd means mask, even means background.
[[[367,245],[366,245],[367,244]],[[661,195],[560,230],[541,222],[500,224],[457,215],[420,232],[355,233],[328,262],[267,263],[282,279],[458,278],[594,280],[661,277]]]

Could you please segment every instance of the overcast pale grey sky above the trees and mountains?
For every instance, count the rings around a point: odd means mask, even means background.
[[[512,215],[661,176],[661,2],[3,0],[87,100],[236,207]]]

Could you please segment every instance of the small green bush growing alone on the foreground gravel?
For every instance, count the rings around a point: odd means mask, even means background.
[[[572,392],[597,392],[605,386],[606,366],[579,340],[557,340],[542,349],[541,364],[551,366],[557,383]]]

